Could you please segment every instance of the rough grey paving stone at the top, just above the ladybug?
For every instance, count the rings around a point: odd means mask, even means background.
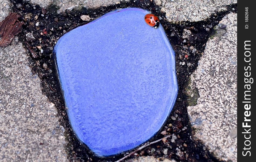
[[[169,22],[201,21],[218,11],[227,10],[226,5],[237,0],[155,0],[155,4],[166,13]]]

